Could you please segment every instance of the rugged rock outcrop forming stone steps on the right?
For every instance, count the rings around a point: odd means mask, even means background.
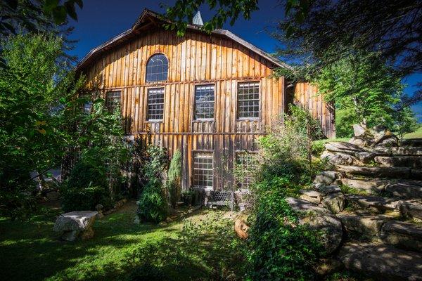
[[[320,227],[324,217],[340,222],[340,242],[328,237],[338,249],[331,258],[348,270],[375,280],[422,280],[422,139],[399,145],[383,126],[355,125],[349,142],[325,148],[321,158],[333,171],[317,175],[290,206],[314,213]]]

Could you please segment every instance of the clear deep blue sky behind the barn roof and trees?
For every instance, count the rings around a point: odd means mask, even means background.
[[[274,52],[279,44],[272,39],[265,30],[271,30],[278,19],[283,17],[283,7],[279,1],[260,0],[260,11],[252,13],[251,20],[240,18],[235,25],[227,24],[225,29],[234,32],[241,38],[268,53]],[[70,24],[75,27],[71,38],[79,40],[72,54],[83,58],[91,48],[94,48],[115,35],[129,29],[144,8],[158,13],[164,13],[160,3],[172,5],[174,1],[145,1],[145,0],[84,0],[84,8],[77,11],[78,21]],[[200,9],[204,21],[212,17],[207,7]],[[405,79],[408,84],[406,93],[413,93],[417,81],[422,81],[422,74],[414,74]],[[418,119],[422,121],[422,104],[414,106]]]

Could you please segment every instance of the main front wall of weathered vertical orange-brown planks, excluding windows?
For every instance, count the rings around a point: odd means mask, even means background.
[[[146,83],[146,62],[155,53],[167,56],[168,79]],[[232,180],[236,152],[255,150],[255,138],[283,113],[284,79],[270,78],[272,67],[268,60],[226,37],[188,31],[179,38],[174,32],[156,29],[110,49],[83,72],[90,83],[122,92],[128,134],[163,145],[170,155],[181,150],[186,190],[192,184],[193,152],[214,152],[214,188],[222,188]],[[237,84],[241,81],[260,82],[260,119],[237,119]],[[194,89],[200,84],[215,85],[213,121],[193,118]],[[165,88],[162,122],[146,119],[147,91],[155,87]]]

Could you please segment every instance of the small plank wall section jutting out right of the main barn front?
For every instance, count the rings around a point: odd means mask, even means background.
[[[299,103],[309,110],[312,117],[319,119],[323,133],[327,138],[335,138],[335,115],[333,105],[325,103],[318,88],[308,82],[295,85],[294,103]]]

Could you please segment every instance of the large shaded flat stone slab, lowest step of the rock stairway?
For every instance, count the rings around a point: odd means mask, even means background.
[[[350,242],[338,254],[348,270],[376,280],[422,280],[422,254],[385,244]]]

